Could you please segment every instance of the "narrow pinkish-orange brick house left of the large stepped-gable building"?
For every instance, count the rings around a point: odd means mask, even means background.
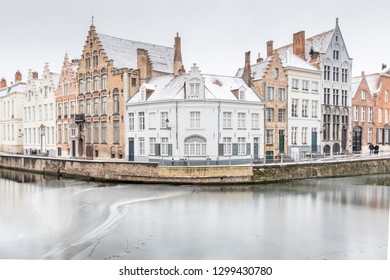
[[[74,118],[76,114],[76,71],[78,60],[69,61],[65,55],[56,93],[57,156],[75,157],[76,140]]]

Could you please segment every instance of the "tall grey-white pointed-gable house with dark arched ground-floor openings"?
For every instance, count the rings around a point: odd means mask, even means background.
[[[321,149],[324,154],[352,151],[351,80],[349,56],[338,19],[334,29],[310,38],[305,32],[293,35],[293,44],[278,51],[292,50],[320,69],[321,75]]]

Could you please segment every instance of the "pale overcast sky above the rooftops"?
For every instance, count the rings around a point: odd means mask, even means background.
[[[41,75],[45,62],[59,72],[65,52],[80,57],[92,14],[99,33],[125,39],[173,46],[179,32],[186,70],[195,62],[222,75],[235,75],[246,51],[254,63],[268,40],[279,47],[300,30],[311,37],[339,17],[353,74],[373,73],[390,67],[389,8],[383,0],[1,0],[0,78],[20,70],[25,79],[30,68]]]

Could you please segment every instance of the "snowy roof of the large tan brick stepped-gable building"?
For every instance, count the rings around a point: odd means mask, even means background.
[[[153,70],[173,73],[174,49],[143,42],[121,39],[98,33],[97,36],[109,59],[114,61],[115,68],[137,68],[137,49],[148,51]]]

